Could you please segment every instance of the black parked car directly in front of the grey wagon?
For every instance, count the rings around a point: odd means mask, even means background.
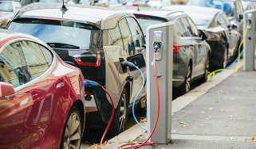
[[[167,10],[183,10],[195,22],[199,29],[206,30],[210,36],[207,39],[211,45],[211,67],[225,68],[238,55],[238,45],[241,34],[236,31],[236,25],[230,21],[222,10],[199,6],[170,6]]]

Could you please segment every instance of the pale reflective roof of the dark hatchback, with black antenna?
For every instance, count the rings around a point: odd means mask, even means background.
[[[115,21],[124,17],[131,16],[132,14],[115,12],[104,7],[99,6],[83,6],[77,4],[65,4],[68,9],[65,13],[61,11],[62,4],[60,3],[41,3],[36,2],[23,7],[17,17],[50,17],[59,18],[63,20],[83,21],[96,25],[100,29],[112,29],[116,26]],[[109,20],[112,22],[110,23]]]

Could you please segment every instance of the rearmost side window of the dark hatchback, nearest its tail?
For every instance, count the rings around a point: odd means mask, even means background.
[[[118,25],[114,29],[103,31],[103,45],[118,45],[123,47],[122,36]]]

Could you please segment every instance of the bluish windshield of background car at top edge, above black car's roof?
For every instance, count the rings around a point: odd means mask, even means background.
[[[187,5],[211,7],[218,10],[223,10],[223,0],[190,0],[187,2]]]

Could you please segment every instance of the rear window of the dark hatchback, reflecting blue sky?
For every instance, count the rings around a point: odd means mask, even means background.
[[[56,48],[92,49],[101,46],[100,29],[79,22],[18,18],[8,29],[36,36]]]

